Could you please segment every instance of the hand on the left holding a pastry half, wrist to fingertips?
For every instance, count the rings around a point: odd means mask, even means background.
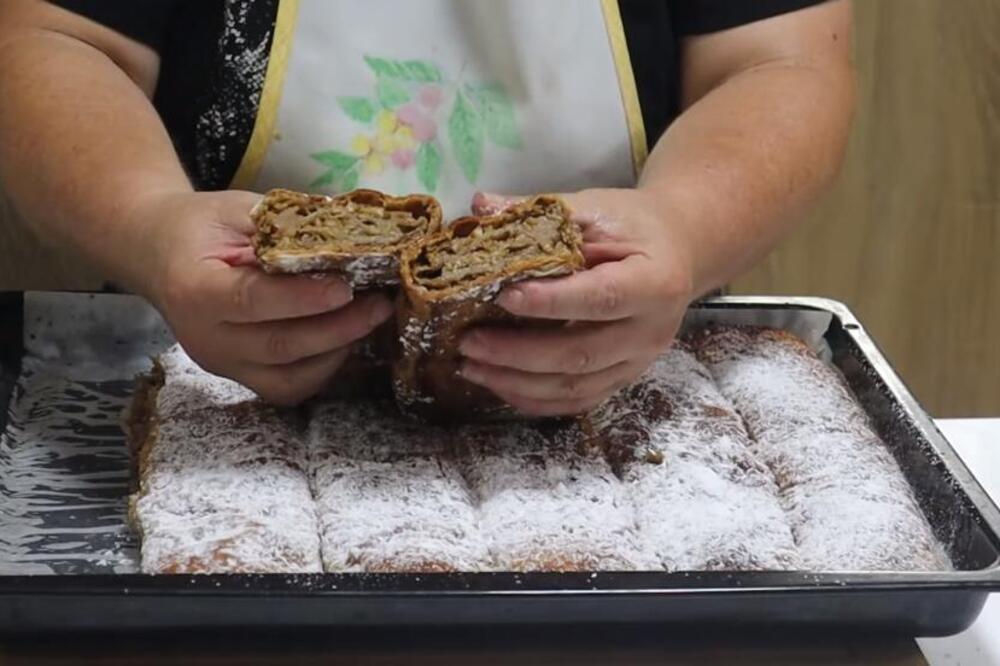
[[[205,370],[290,405],[323,388],[392,304],[355,298],[335,277],[260,270],[249,216],[259,200],[238,191],[144,197],[128,213],[137,239],[130,272]]]

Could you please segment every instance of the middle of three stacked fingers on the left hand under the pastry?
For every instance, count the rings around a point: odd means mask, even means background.
[[[347,347],[392,314],[381,294],[365,294],[348,305],[311,317],[249,324],[222,324],[227,344],[242,360],[263,365],[294,363]]]

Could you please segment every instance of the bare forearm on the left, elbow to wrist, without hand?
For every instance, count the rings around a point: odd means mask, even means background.
[[[139,86],[95,47],[24,28],[0,41],[0,182],[39,233],[147,292],[140,197],[190,190]]]

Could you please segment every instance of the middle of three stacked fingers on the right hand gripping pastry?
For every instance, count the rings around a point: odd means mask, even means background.
[[[523,370],[583,375],[633,358],[647,336],[634,320],[550,329],[483,328],[459,343],[467,358]],[[622,344],[623,340],[632,341]],[[653,340],[649,348],[655,347]]]

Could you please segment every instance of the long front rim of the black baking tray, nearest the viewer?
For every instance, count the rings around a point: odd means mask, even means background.
[[[451,574],[82,574],[0,577],[0,596],[550,597],[1000,591],[996,567],[962,572],[483,572]]]

